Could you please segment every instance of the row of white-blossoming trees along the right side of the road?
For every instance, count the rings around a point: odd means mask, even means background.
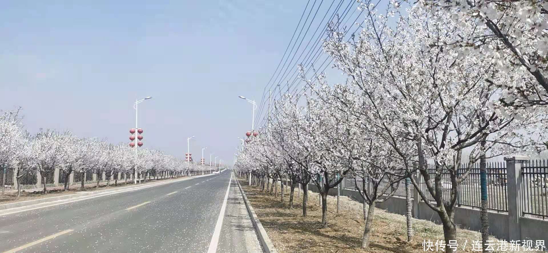
[[[404,4],[412,6],[399,8]],[[346,31],[330,24],[323,43],[346,82],[329,84],[323,73],[306,77],[301,68],[305,89],[275,102],[268,131],[246,143],[235,168],[266,191],[272,191],[270,180],[287,176],[288,208],[297,184],[315,185],[322,227],[328,226],[329,189],[345,176],[361,177],[370,186],[360,187],[364,248],[374,218],[369,206],[392,197],[400,183],[412,239],[414,186],[439,215],[445,241],[456,240],[459,185],[473,164],[538,152],[548,140],[547,4],[393,1],[380,13],[362,2],[361,32],[345,38]],[[460,164],[464,173],[456,173]],[[442,174],[450,178],[449,197],[442,194]],[[304,216],[306,204],[305,195]]]

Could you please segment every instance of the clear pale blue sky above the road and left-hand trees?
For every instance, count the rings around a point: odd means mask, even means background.
[[[48,2],[0,9],[0,109],[22,106],[31,133],[127,143],[133,102],[153,96],[139,107],[145,147],[184,158],[195,135],[195,160],[208,146],[207,160],[215,152],[226,162],[251,125],[251,105],[238,95],[260,100],[307,3]]]

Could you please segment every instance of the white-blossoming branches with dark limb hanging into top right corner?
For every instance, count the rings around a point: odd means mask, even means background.
[[[459,38],[431,40],[427,42],[429,46],[486,55],[501,71],[521,68],[527,72],[520,82],[496,83],[508,91],[501,97],[506,105],[548,105],[548,3],[420,0],[415,6],[433,19],[450,16],[454,23],[466,28]]]

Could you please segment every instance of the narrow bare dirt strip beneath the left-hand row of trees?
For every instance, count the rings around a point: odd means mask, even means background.
[[[176,177],[175,179],[182,179],[183,177]],[[150,181],[147,179],[146,182],[141,181],[141,183],[150,183],[150,182],[157,182],[157,181],[163,181],[163,180],[175,180],[175,179],[151,179]],[[92,192],[92,191],[99,191],[104,189],[112,189],[116,187],[124,187],[124,186],[130,186],[133,185],[133,181],[128,181],[125,183],[123,180],[118,180],[118,185],[114,184],[114,181],[110,181],[109,186],[106,186],[106,182],[100,182],[99,187],[96,186],[96,182],[93,183],[86,183],[84,185],[84,188],[81,188],[81,185],[78,183],[77,185],[71,185],[70,188],[66,191],[63,191],[64,186],[57,186],[57,187],[48,187],[48,194],[43,194],[42,191],[34,191],[34,192],[28,192],[25,190],[21,190],[21,197],[17,197],[17,191],[9,191],[4,192],[1,194],[0,192],[0,204],[7,204],[7,203],[14,203],[14,202],[20,202],[20,201],[26,201],[26,200],[34,200],[34,199],[42,199],[42,198],[49,198],[49,197],[58,197],[61,195],[69,195],[69,194],[75,194],[78,192]]]

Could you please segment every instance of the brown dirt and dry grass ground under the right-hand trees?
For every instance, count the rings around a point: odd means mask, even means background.
[[[336,213],[336,198],[329,197],[329,228],[320,228],[322,209],[317,193],[309,191],[308,214],[307,217],[302,217],[302,199],[298,197],[297,189],[295,189],[294,209],[289,210],[289,190],[286,191],[282,203],[280,202],[279,185],[278,197],[274,198],[273,194],[261,192],[259,187],[248,186],[244,179],[240,179],[239,182],[278,252],[418,253],[425,252],[424,240],[431,240],[434,244],[436,240],[443,240],[441,225],[431,221],[413,220],[414,237],[413,241],[408,243],[406,241],[405,217],[376,209],[370,247],[367,250],[362,249],[364,222],[361,203],[340,197],[340,210],[339,213]],[[302,192],[300,196],[302,197]],[[477,231],[459,229],[458,239],[458,243],[461,245],[458,252],[481,252],[481,250],[472,251],[473,241],[481,240],[481,234]],[[496,250],[500,243],[496,238],[491,239],[495,244],[495,251],[492,252],[524,252],[522,248],[519,251],[509,248]],[[463,250],[462,246],[465,242],[466,246]],[[444,252],[441,249],[437,251]],[[436,248],[434,247],[430,252],[436,252]]]

